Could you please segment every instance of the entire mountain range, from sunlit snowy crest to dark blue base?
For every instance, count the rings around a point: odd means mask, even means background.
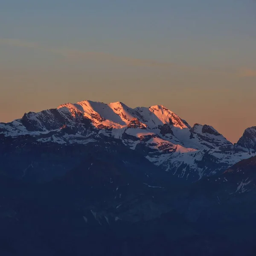
[[[0,255],[253,256],[255,149],[162,105],[0,123]]]

